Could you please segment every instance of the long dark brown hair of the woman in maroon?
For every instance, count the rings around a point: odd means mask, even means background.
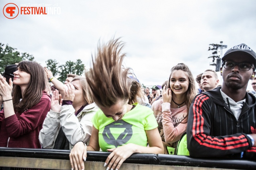
[[[44,68],[34,61],[21,61],[18,66],[26,73],[30,74],[30,81],[27,88],[21,95],[20,86],[13,87],[13,108],[17,112],[24,112],[39,103],[42,97],[42,91],[47,87],[47,77]],[[22,100],[20,101],[20,99]]]

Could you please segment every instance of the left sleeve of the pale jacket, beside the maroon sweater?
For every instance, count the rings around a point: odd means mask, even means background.
[[[42,129],[39,132],[39,142],[43,148],[52,149],[60,130],[60,113],[50,110],[47,113]]]

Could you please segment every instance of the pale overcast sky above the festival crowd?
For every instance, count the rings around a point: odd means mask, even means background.
[[[99,40],[122,37],[125,65],[152,86],[167,80],[178,63],[187,64],[194,77],[215,70],[209,44],[223,41],[229,49],[245,43],[256,51],[254,0],[1,0],[1,9],[7,3],[60,7],[59,15],[0,15],[0,42],[32,54],[42,66],[48,59],[81,59],[89,68]]]

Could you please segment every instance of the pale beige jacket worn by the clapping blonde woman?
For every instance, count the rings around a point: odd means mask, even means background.
[[[70,143],[70,149],[78,141],[89,142],[92,133],[91,119],[98,109],[98,106],[92,103],[85,106],[77,116],[72,105],[62,106],[60,113],[50,110],[39,133],[40,144],[43,148],[53,148],[60,127]]]

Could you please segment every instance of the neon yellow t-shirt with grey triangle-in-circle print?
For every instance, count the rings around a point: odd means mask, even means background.
[[[148,138],[145,130],[157,128],[154,112],[138,103],[136,107],[125,113],[121,120],[114,121],[98,110],[92,118],[93,126],[99,130],[99,146],[103,152],[128,143],[147,146]]]

